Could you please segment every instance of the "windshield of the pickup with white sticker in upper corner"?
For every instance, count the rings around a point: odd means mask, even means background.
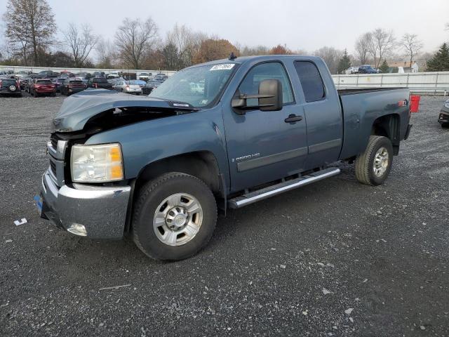
[[[222,63],[181,70],[161,83],[149,97],[205,107],[220,95],[235,68],[235,63]]]

